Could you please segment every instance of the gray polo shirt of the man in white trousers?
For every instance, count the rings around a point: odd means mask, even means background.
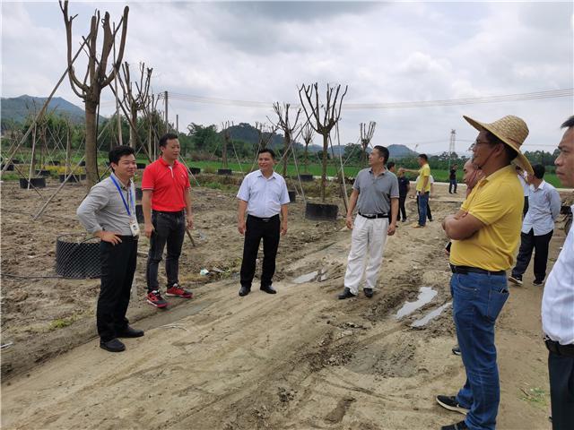
[[[359,192],[357,211],[365,214],[390,214],[391,199],[398,199],[398,180],[387,168],[376,177],[370,168],[363,168],[352,188]]]

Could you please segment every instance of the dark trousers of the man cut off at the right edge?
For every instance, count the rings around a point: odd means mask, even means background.
[[[552,429],[574,428],[574,357],[548,352]]]

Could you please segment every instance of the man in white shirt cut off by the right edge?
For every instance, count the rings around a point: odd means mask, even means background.
[[[574,116],[562,124],[566,133],[554,161],[561,184],[574,187]],[[572,206],[574,210],[574,205]],[[545,334],[552,403],[552,429],[574,428],[574,228],[554,263],[542,299],[542,328]]]

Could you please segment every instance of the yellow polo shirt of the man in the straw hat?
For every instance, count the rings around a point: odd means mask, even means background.
[[[451,264],[508,271],[520,242],[523,205],[522,185],[512,166],[484,177],[461,207],[484,227],[464,240],[452,241]]]

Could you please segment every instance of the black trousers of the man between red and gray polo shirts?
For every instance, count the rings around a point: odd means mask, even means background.
[[[251,288],[255,276],[257,251],[263,239],[263,271],[261,273],[261,287],[271,287],[275,273],[275,257],[279,247],[279,233],[281,220],[275,215],[268,221],[262,221],[248,215],[246,221],[247,231],[243,245],[243,262],[241,262],[241,286]]]

